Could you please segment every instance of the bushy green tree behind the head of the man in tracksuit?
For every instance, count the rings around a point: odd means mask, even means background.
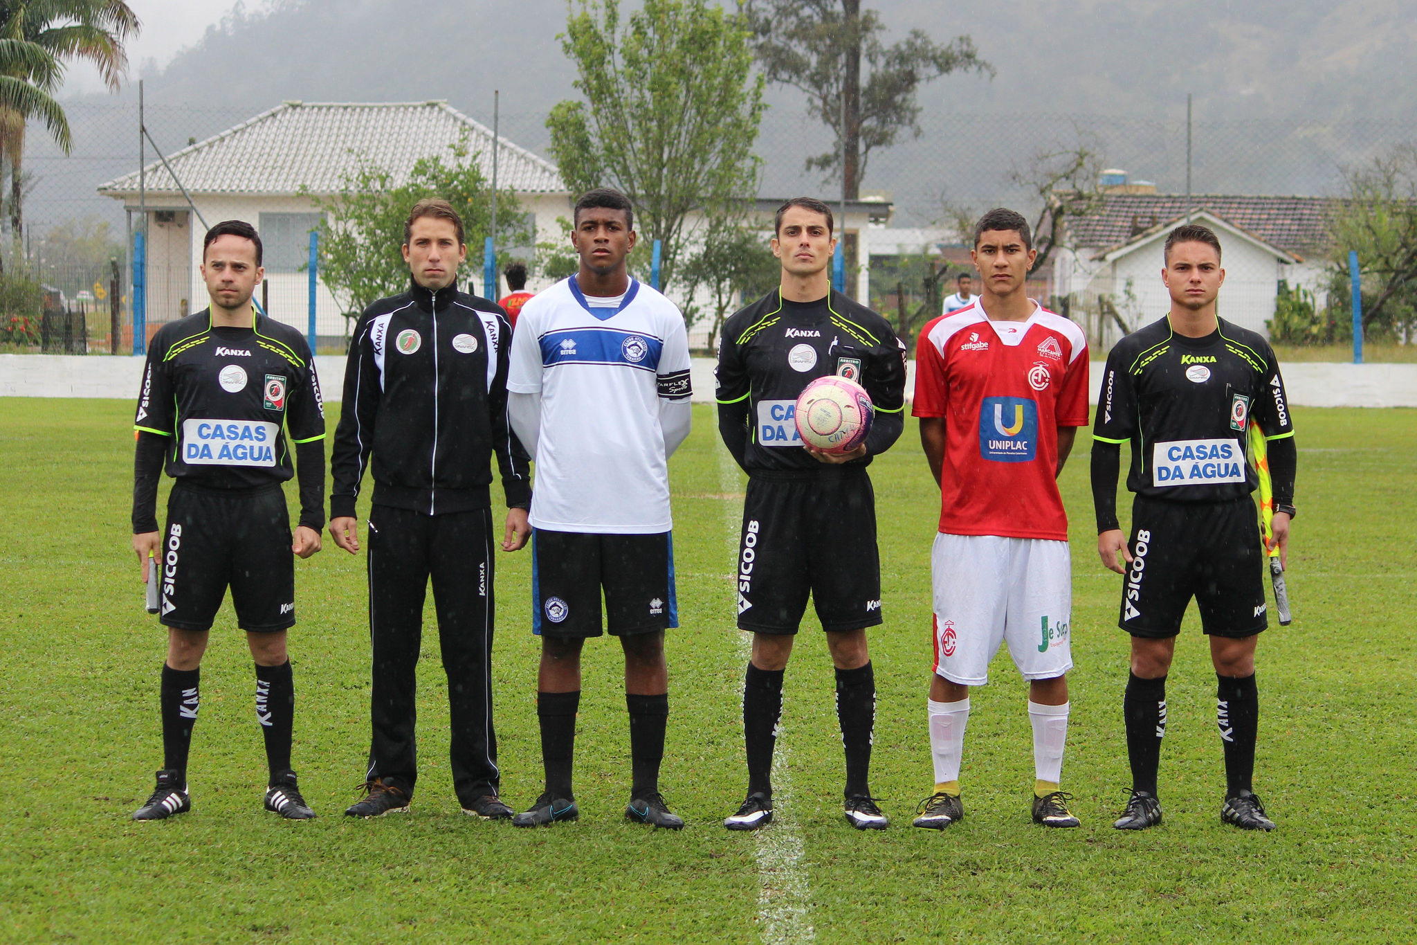
[[[334,196],[303,191],[324,213],[319,230],[320,278],[340,302],[347,320],[376,299],[408,288],[404,221],[424,197],[442,197],[453,205],[469,245],[480,247],[479,234],[492,231],[492,186],[473,160],[476,154],[469,154],[466,142],[449,150],[452,163],[441,157],[419,159],[404,184],[395,184],[388,169],[364,162],[344,174],[343,187]],[[504,222],[507,220],[514,222]],[[497,193],[497,231],[510,239],[531,239],[510,188]]]

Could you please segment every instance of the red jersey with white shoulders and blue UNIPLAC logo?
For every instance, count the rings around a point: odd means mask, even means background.
[[[978,299],[920,333],[911,412],[945,418],[941,531],[1067,540],[1057,428],[1087,426],[1087,337],[1034,305],[990,322]]]

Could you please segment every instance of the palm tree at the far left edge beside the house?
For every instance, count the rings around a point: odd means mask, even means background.
[[[137,16],[123,0],[0,0],[0,154],[10,157],[10,228],[17,245],[24,231],[26,125],[43,119],[68,154],[69,123],[52,98],[64,67],[71,60],[92,62],[116,91],[128,69],[123,41],[137,28]]]

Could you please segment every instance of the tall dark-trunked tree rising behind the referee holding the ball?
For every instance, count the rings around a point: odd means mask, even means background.
[[[842,180],[847,200],[860,196],[873,150],[904,132],[920,137],[915,91],[924,82],[961,71],[993,75],[968,35],[941,45],[911,30],[886,45],[886,24],[860,0],[750,0],[748,16],[768,81],[805,92],[808,112],[836,136],[832,152],[806,159],[808,170]]]

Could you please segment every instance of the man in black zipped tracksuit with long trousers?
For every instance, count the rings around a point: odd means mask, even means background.
[[[429,577],[452,715],[453,789],[465,813],[510,817],[497,799],[492,725],[492,453],[507,500],[504,551],[530,536],[529,460],[507,425],[512,326],[496,303],[456,290],[462,220],[422,200],[405,225],[408,292],[371,305],[354,330],[330,468],[330,533],[359,551],[354,503],[373,452],[368,623],[373,747],[366,796],[346,810],[408,810],[418,779],[414,670]]]

